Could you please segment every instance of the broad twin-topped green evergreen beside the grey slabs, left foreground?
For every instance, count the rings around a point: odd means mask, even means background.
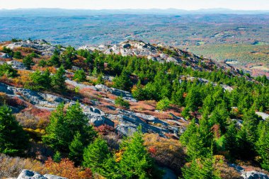
[[[81,136],[78,137],[77,133]],[[67,153],[70,152],[69,146],[73,142],[70,148],[75,153],[79,141],[85,147],[93,141],[94,137],[96,137],[96,132],[91,125],[88,125],[88,120],[77,102],[70,105],[66,112],[64,112],[63,104],[60,104],[55,112],[52,112],[50,124],[46,127],[46,134],[42,136],[42,140],[55,151]]]

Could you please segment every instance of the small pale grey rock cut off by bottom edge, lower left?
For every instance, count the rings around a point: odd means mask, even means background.
[[[18,175],[17,179],[67,179],[67,178],[62,178],[57,175],[40,175],[37,172],[34,171],[28,171],[28,170],[23,170],[21,171],[20,175]]]

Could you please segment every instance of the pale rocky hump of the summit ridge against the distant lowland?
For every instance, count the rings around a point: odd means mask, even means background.
[[[93,52],[98,50],[104,54],[120,54],[122,56],[144,57],[157,62],[173,62],[183,64],[192,69],[213,71],[215,67],[223,71],[229,71],[233,75],[239,75],[238,71],[227,64],[218,64],[211,59],[200,58],[190,52],[185,52],[176,47],[164,47],[163,45],[151,45],[141,40],[125,40],[113,46],[111,45],[84,45],[79,49]],[[205,66],[202,66],[205,64]],[[229,90],[229,88],[227,88]]]

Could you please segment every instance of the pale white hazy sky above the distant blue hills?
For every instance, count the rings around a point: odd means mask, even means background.
[[[269,0],[0,0],[0,8],[231,8],[269,10]]]

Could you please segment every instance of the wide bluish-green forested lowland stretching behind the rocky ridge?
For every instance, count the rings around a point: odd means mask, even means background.
[[[163,43],[236,67],[269,67],[269,15],[135,15],[0,17],[0,41],[45,39],[79,47],[127,39]]]

